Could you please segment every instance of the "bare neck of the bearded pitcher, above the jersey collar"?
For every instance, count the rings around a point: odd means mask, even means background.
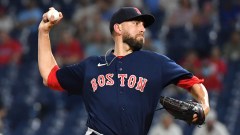
[[[123,43],[122,40],[115,40],[114,55],[115,56],[126,56],[133,51],[128,44]]]

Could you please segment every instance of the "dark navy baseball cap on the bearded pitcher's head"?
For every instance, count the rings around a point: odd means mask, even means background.
[[[113,26],[116,23],[122,23],[130,20],[142,20],[144,27],[148,27],[154,23],[155,18],[150,14],[142,14],[140,10],[136,7],[121,7],[117,10],[110,20],[110,32],[113,32]]]

